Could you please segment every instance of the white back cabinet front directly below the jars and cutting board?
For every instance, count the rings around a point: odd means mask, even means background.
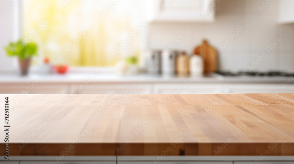
[[[224,93],[225,85],[223,84],[205,84],[205,83],[174,83],[174,84],[155,84],[156,94],[192,94],[192,93]]]

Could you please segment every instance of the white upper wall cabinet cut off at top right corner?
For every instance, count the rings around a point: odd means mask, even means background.
[[[294,1],[280,0],[280,23],[294,23]]]

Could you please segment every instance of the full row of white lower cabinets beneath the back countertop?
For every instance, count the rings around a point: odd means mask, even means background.
[[[180,90],[180,91],[178,91]],[[199,93],[294,93],[294,83],[1,83],[0,94],[199,94]]]

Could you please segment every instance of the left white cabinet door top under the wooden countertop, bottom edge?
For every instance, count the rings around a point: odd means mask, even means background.
[[[76,162],[76,161],[21,161],[20,164],[115,164],[116,162],[113,161],[113,162],[84,162],[84,161],[79,161],[79,162]]]

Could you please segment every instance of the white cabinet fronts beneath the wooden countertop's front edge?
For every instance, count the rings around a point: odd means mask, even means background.
[[[4,157],[4,156],[1,156]],[[2,164],[294,164],[294,156],[9,156]]]

